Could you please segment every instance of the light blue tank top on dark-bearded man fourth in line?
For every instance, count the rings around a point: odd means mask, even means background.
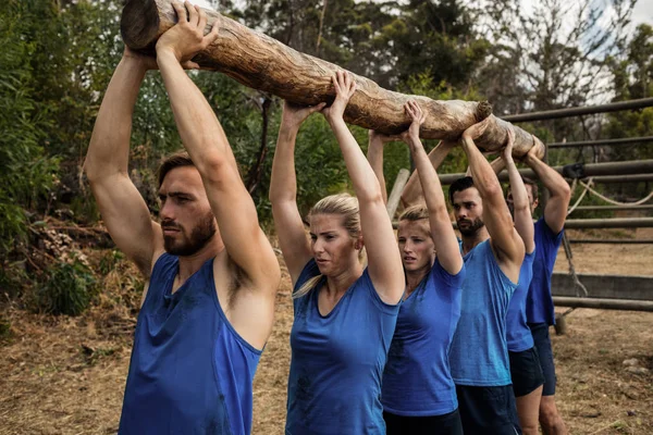
[[[449,356],[452,377],[457,385],[509,385],[506,313],[517,285],[496,263],[490,239],[463,259],[467,278]]]

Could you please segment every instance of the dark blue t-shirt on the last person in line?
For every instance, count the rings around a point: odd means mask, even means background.
[[[535,222],[535,261],[533,279],[526,299],[526,319],[528,323],[555,324],[553,297],[551,296],[551,276],[563,241],[564,229],[554,234],[544,217]]]

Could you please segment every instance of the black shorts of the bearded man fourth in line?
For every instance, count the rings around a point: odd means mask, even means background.
[[[521,434],[512,385],[472,387],[456,385],[465,435]]]

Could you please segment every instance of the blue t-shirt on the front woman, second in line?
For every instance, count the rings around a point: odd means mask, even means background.
[[[301,271],[295,291],[320,274],[315,260]],[[381,376],[399,304],[384,303],[367,271],[333,310],[320,314],[323,277],[294,299],[287,435],[385,434]]]

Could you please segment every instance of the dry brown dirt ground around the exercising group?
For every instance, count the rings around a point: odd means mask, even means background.
[[[602,236],[652,238],[653,229]],[[651,245],[572,245],[572,250],[578,272],[653,275]],[[556,270],[567,269],[560,251]],[[0,314],[11,325],[0,344],[0,434],[115,433],[134,314],[110,300],[81,318],[13,307]],[[284,273],[274,332],[255,380],[254,434],[283,433],[292,322]],[[653,434],[653,313],[578,309],[567,324],[567,335],[553,335],[553,347],[556,400],[570,433]],[[637,359],[636,369],[624,364],[629,359]]]

